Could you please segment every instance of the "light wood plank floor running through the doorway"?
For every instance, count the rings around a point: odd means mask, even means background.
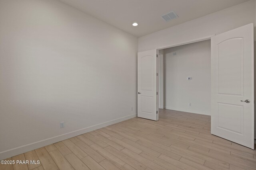
[[[0,169],[256,169],[256,151],[210,134],[210,116],[161,109],[159,121],[133,118],[7,160]]]

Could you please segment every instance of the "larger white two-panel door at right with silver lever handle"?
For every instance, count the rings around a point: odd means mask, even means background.
[[[211,133],[251,149],[254,149],[253,37],[251,23],[216,35],[211,41]]]

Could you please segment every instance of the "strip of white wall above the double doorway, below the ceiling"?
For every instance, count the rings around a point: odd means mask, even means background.
[[[250,0],[192,21],[139,37],[138,51],[170,47],[185,41],[219,34],[248,23],[255,23],[255,18],[255,0]]]

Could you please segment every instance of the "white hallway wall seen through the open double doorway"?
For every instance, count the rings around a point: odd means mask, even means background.
[[[210,115],[210,61],[210,40],[164,49],[160,108]]]

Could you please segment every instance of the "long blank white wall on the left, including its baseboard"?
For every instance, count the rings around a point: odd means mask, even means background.
[[[1,0],[0,160],[135,117],[137,52],[62,2]]]

